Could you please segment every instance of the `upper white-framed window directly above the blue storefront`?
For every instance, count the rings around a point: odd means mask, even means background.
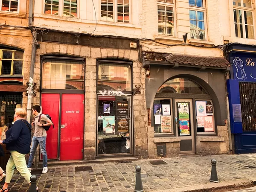
[[[233,0],[233,8],[236,37],[254,39],[251,0]]]

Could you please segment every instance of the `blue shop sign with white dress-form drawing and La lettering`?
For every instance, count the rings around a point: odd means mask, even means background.
[[[233,79],[256,82],[256,54],[235,52],[231,54]]]

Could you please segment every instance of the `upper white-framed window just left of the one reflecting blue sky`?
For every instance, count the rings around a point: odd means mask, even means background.
[[[174,36],[174,2],[173,0],[157,0],[158,33]]]

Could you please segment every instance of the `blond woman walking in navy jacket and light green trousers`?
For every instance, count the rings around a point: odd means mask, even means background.
[[[6,181],[0,192],[9,192],[8,185],[11,182],[15,167],[18,172],[30,183],[31,173],[27,169],[25,155],[29,153],[31,143],[31,125],[25,120],[26,110],[15,109],[15,123],[6,131],[6,140],[0,143],[6,144],[6,149],[10,151],[11,157],[6,165]],[[38,187],[37,187],[38,191]]]

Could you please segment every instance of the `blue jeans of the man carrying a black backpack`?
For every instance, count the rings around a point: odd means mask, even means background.
[[[27,165],[28,168],[31,168],[32,166],[32,162],[35,156],[35,150],[38,146],[38,143],[40,146],[41,153],[43,155],[43,167],[47,167],[46,137],[33,137],[29,155],[29,163]]]

